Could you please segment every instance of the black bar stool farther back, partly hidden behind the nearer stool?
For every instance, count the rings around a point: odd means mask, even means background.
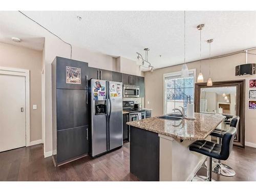
[[[239,123],[239,116],[235,116],[232,118],[230,121],[230,126],[236,127],[238,130],[238,123]],[[221,139],[223,138],[224,134],[226,131],[220,130],[220,129],[215,129],[210,136],[215,136],[217,137],[217,143],[220,143]],[[228,165],[221,163],[221,160],[219,159],[217,164],[212,168],[212,172],[217,173],[222,176],[226,177],[232,177],[236,175],[236,172]]]

